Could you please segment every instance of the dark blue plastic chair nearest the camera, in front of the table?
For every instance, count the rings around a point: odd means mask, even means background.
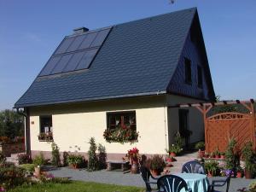
[[[183,180],[182,177],[176,175],[165,175],[160,177],[157,180],[157,186],[160,189],[160,192],[180,192],[182,189],[185,191],[191,192],[191,189],[188,189],[187,183]]]

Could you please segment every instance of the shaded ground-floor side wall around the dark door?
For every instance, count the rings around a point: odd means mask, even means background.
[[[196,100],[184,96],[167,96],[167,104],[168,106],[174,106],[176,104],[183,103],[198,103],[204,102],[201,100]],[[201,112],[196,108],[183,108],[189,110],[189,131],[192,131],[192,135],[189,137],[189,143],[195,143],[202,139],[204,139],[204,123],[203,116]],[[168,126],[169,126],[169,143],[172,144],[174,142],[174,135],[179,130],[179,117],[178,117],[178,108],[168,108]]]

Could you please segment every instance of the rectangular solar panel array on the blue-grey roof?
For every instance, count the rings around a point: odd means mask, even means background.
[[[39,76],[66,73],[90,67],[111,28],[64,38]]]

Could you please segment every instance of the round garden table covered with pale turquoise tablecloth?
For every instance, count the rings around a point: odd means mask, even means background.
[[[182,177],[192,192],[207,192],[208,179],[206,175],[199,173],[177,173],[174,175]]]

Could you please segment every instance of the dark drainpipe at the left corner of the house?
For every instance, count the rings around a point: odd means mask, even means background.
[[[25,148],[26,154],[31,156],[31,147],[30,147],[30,122],[29,122],[29,110],[28,108],[24,108],[24,112],[20,111],[20,108],[16,108],[18,114],[24,116],[25,119]]]

